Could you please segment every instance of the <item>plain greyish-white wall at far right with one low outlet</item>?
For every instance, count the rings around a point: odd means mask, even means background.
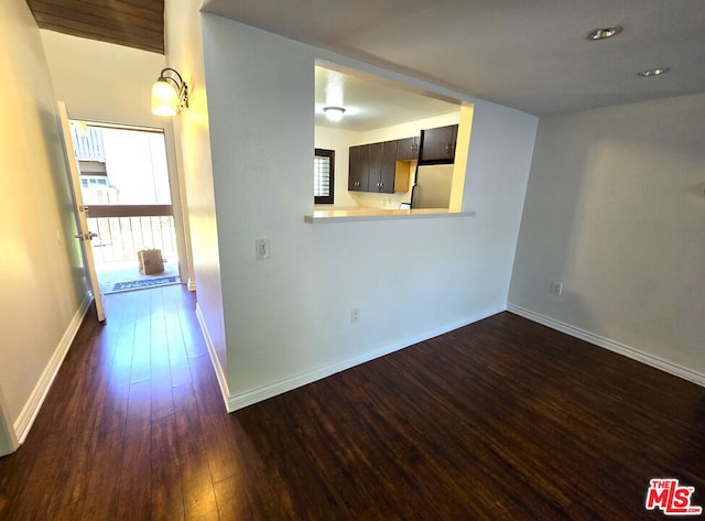
[[[703,137],[705,95],[542,118],[510,302],[705,381]]]

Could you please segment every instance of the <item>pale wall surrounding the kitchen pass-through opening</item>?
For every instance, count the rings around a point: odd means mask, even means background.
[[[315,59],[365,65],[210,14],[203,35],[231,408],[505,308],[536,118],[470,100],[476,218],[307,225]]]

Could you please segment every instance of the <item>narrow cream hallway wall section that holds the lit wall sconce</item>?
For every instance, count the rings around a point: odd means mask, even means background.
[[[189,86],[189,108],[174,118],[180,149],[188,224],[191,229],[194,271],[197,283],[198,314],[207,341],[217,358],[220,382],[227,371],[225,318],[220,274],[213,167],[210,161],[210,130],[208,99],[203,58],[203,39],[198,8],[200,0],[166,2],[166,55]],[[252,247],[254,248],[254,247]],[[223,389],[227,395],[227,389]]]

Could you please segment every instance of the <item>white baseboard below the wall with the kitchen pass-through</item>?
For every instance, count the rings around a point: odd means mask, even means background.
[[[251,389],[249,391],[234,394],[228,400],[228,411],[229,412],[237,411],[238,409],[252,405],[253,403],[261,402],[262,400],[267,400],[269,398],[275,397],[278,394],[282,394],[284,392],[291,391],[302,386],[313,383],[316,380],[327,378],[332,375],[335,375],[336,372],[350,369],[351,367],[359,366],[360,363],[365,363],[367,361],[373,360],[375,358],[389,355],[390,352],[398,351],[400,349],[412,346],[414,344],[419,344],[420,341],[427,340],[429,338],[433,338],[438,335],[443,335],[445,333],[457,329],[459,327],[467,326],[468,324],[473,324],[474,322],[481,321],[482,318],[487,318],[488,316],[496,315],[497,313],[501,313],[503,311],[506,311],[505,306],[489,308],[482,313],[479,313],[464,321],[459,321],[453,324],[447,324],[443,327],[427,330],[423,334],[415,335],[413,337],[404,338],[403,340],[399,340],[388,346],[383,346],[378,349],[367,351],[362,355],[358,355],[352,358],[347,358],[338,362],[328,363],[326,366],[312,369],[311,371],[305,371],[300,375],[294,375],[293,377],[275,381],[273,383],[269,383],[267,386],[262,386],[256,389]]]

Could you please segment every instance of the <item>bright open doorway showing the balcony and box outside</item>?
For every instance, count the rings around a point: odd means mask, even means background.
[[[101,293],[181,282],[161,129],[70,120]]]

